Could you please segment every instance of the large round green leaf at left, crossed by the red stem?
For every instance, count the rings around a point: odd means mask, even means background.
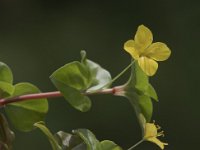
[[[30,83],[19,83],[15,85],[13,97],[40,93],[40,90]],[[30,131],[33,124],[42,121],[48,112],[47,99],[33,99],[28,101],[16,102],[6,105],[6,114],[11,123],[21,131]]]

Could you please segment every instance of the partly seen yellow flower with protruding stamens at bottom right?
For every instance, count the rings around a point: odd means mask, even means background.
[[[157,138],[159,136],[164,136],[163,131],[158,132],[159,129],[160,129],[160,127],[156,126],[154,123],[146,123],[143,139],[146,141],[153,142],[153,143],[157,144],[161,149],[164,149],[164,146],[168,145],[168,144],[161,142]]]

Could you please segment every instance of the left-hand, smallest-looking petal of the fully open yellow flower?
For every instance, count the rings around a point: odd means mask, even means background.
[[[139,54],[137,51],[137,47],[135,45],[135,41],[134,40],[128,40],[126,43],[124,43],[124,49],[134,58],[134,59],[138,59],[139,58]]]

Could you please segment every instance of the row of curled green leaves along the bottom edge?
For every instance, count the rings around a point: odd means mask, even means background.
[[[35,123],[49,139],[53,150],[122,150],[112,141],[99,141],[88,129],[73,130],[73,134],[63,131],[53,135],[45,126],[44,122]]]

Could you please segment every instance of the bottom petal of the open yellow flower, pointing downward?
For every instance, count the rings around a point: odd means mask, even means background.
[[[158,69],[158,63],[147,57],[140,57],[138,59],[138,64],[148,76],[153,76]]]

